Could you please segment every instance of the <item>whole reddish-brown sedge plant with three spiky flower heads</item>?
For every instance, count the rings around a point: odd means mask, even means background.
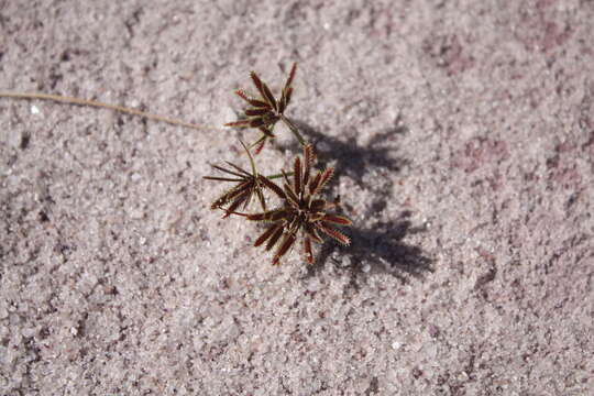
[[[251,173],[242,167],[227,163],[229,167],[213,165],[224,176],[205,176],[209,180],[233,183],[234,186],[221,195],[211,208],[222,210],[223,218],[237,216],[250,221],[265,222],[265,231],[256,239],[254,245],[264,245],[266,251],[275,249],[272,263],[277,265],[280,258],[301,238],[307,263],[314,263],[312,242],[322,243],[322,237],[329,237],[343,245],[350,244],[350,239],[336,227],[350,226],[351,220],[344,216],[330,213],[329,210],[340,207],[337,198],[332,202],[327,201],[322,190],[334,174],[333,167],[318,170],[314,176],[314,165],[317,156],[311,144],[307,143],[295,124],[285,116],[285,110],[293,95],[293,80],[297,65],[294,64],[280,98],[277,100],[265,82],[252,72],[251,77],[260,92],[260,98],[249,96],[243,90],[235,94],[249,103],[245,118],[227,123],[228,127],[255,128],[261,131],[261,138],[250,146],[243,142],[243,148],[251,164]],[[257,154],[264,147],[266,140],[274,138],[274,125],[282,121],[289,128],[297,141],[302,145],[302,158],[297,156],[293,164],[293,172],[280,170],[271,176],[264,176],[256,169],[254,157],[250,150],[255,147]],[[277,184],[275,179],[282,182]],[[262,211],[245,212],[253,197],[257,198]],[[279,204],[273,209],[267,209],[267,198],[274,196]],[[242,211],[239,211],[241,208]]]

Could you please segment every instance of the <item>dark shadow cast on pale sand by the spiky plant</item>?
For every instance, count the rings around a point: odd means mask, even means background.
[[[304,122],[295,122],[304,135],[314,144],[322,162],[337,161],[341,175],[353,179],[361,188],[373,191],[369,210],[362,218],[380,219],[393,194],[394,174],[409,164],[409,160],[396,155],[396,138],[408,131],[398,118],[394,125],[376,133],[363,146],[355,138],[341,141],[324,135]],[[285,147],[298,152],[300,147]],[[373,182],[373,183],[372,183]],[[307,270],[306,277],[314,276],[327,262],[339,271],[349,271],[351,284],[359,288],[359,282],[369,274],[385,273],[402,282],[410,277],[422,278],[432,271],[432,260],[418,246],[404,242],[407,235],[425,232],[425,227],[414,227],[410,212],[403,211],[396,219],[377,220],[366,227],[355,226],[346,232],[352,238],[350,246],[341,246],[328,241],[322,244],[314,265]]]

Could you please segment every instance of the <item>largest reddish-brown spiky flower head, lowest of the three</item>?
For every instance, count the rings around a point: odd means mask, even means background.
[[[310,177],[311,165],[315,160],[316,156],[311,145],[305,145],[304,161],[301,162],[298,156],[295,158],[293,182],[289,180],[287,174],[284,174],[283,189],[271,189],[283,200],[280,207],[260,213],[238,213],[252,221],[272,223],[257,238],[254,245],[260,246],[266,243],[266,251],[277,246],[273,264],[279,264],[280,257],[294,245],[299,234],[302,235],[304,251],[309,264],[314,263],[311,242],[322,243],[321,234],[330,237],[343,245],[351,242],[346,235],[334,228],[336,226],[350,226],[351,220],[343,216],[327,212],[329,209],[337,207],[338,201],[328,202],[319,197],[332,177],[334,168],[326,168],[318,172],[315,177]]]

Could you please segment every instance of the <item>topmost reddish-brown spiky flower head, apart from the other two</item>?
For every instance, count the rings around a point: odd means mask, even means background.
[[[280,120],[283,121],[289,130],[295,134],[295,138],[299,143],[305,144],[304,139],[297,131],[297,128],[285,117],[285,110],[290,102],[293,96],[293,80],[295,79],[295,73],[297,72],[297,64],[294,63],[290,68],[289,76],[285,82],[285,87],[280,92],[280,99],[272,95],[268,86],[260,79],[255,72],[250,73],[250,77],[254,82],[257,91],[260,92],[260,98],[254,98],[248,95],[244,90],[238,89],[235,94],[250,106],[245,110],[245,119],[228,122],[226,127],[238,127],[238,128],[256,128],[262,132],[261,138],[253,144],[256,146],[256,154],[264,147],[267,139],[274,138],[274,125]]]

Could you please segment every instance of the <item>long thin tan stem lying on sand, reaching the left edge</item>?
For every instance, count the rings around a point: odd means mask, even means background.
[[[191,129],[198,130],[198,131],[217,130],[218,129],[218,128],[210,127],[210,125],[198,125],[198,124],[193,124],[193,123],[189,123],[189,122],[174,120],[174,119],[170,119],[170,118],[167,118],[167,117],[151,114],[151,113],[146,113],[144,111],[130,109],[130,108],[127,108],[127,107],[123,107],[123,106],[108,105],[108,103],[102,103],[102,102],[95,101],[95,100],[86,100],[86,99],[79,99],[79,98],[63,97],[63,96],[59,96],[59,95],[41,94],[41,92],[0,92],[0,98],[53,100],[53,101],[57,101],[57,102],[62,102],[62,103],[78,105],[78,106],[90,106],[90,107],[96,107],[96,108],[109,109],[109,110],[119,111],[119,112],[122,112],[122,113],[143,117],[143,118],[148,119],[148,120],[166,122],[166,123],[169,123],[169,124],[180,125],[180,127],[185,127],[185,128],[191,128]]]

